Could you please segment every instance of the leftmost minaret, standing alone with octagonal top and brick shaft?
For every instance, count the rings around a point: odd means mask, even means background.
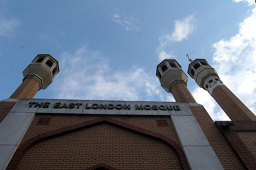
[[[59,63],[50,54],[38,54],[22,72],[24,79],[10,98],[33,98],[40,89],[45,89],[59,72]]]

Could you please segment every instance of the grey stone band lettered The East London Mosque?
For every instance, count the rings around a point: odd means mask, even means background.
[[[184,102],[20,99],[11,112],[59,114],[192,115]]]

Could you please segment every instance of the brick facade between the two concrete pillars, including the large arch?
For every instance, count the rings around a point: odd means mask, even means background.
[[[37,125],[42,116],[52,118],[49,126]],[[190,169],[170,119],[112,118],[38,115],[7,169],[86,169],[100,163],[120,170]],[[158,127],[159,119],[169,127]],[[59,129],[84,120],[88,121]],[[47,132],[50,129],[55,130]]]

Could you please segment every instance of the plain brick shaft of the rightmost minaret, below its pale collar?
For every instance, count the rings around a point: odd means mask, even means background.
[[[211,96],[232,121],[256,121],[256,116],[225,85],[213,88]]]

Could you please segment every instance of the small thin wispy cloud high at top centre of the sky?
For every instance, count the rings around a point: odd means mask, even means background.
[[[112,21],[124,26],[127,31],[139,31],[139,20],[134,19],[131,16],[127,16],[126,14],[120,14],[119,10],[116,10],[115,13],[112,13],[111,18]]]

